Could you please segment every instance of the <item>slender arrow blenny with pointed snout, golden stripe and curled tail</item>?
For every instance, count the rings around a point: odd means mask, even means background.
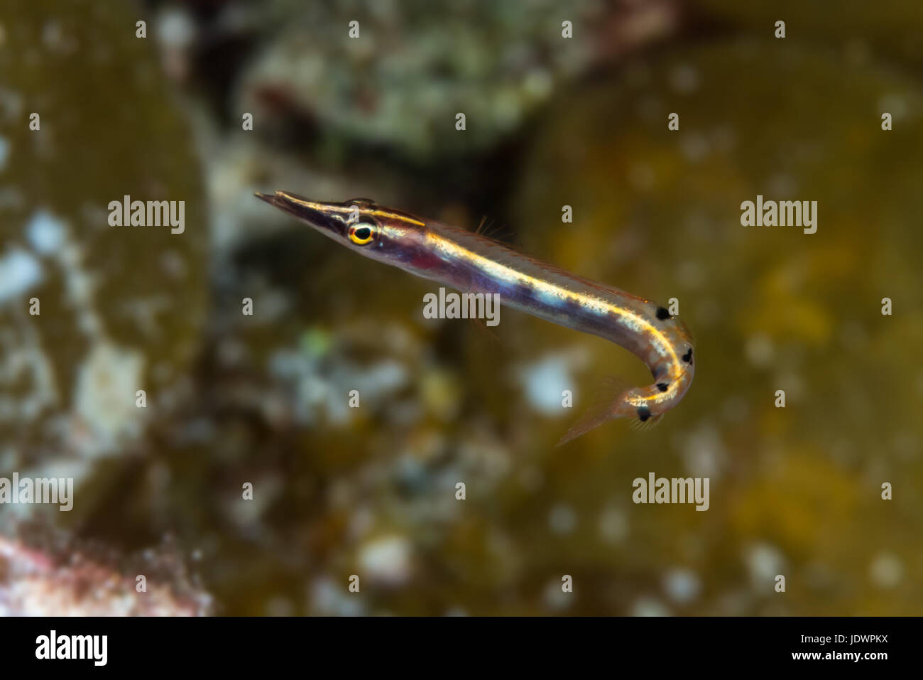
[[[599,335],[641,358],[654,383],[620,391],[591,408],[558,444],[607,420],[645,427],[675,407],[694,374],[686,325],[651,300],[533,260],[488,237],[379,206],[373,200],[308,200],[287,191],[257,198],[366,257],[462,293],[499,294],[500,303],[575,331]]]

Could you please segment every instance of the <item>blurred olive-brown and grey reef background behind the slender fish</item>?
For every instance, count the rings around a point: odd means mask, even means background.
[[[7,0],[0,477],[77,488],[0,505],[0,613],[921,613],[921,34],[913,0]],[[695,382],[556,448],[637,358],[427,321],[277,188],[677,297]],[[185,232],[108,225],[126,194]],[[741,226],[757,194],[817,233]],[[651,471],[710,509],[633,504]]]

